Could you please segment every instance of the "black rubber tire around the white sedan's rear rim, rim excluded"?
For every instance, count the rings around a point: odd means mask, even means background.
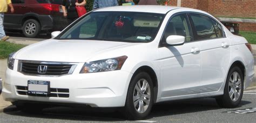
[[[237,100],[232,100],[231,99],[232,96],[230,96],[230,94],[229,94],[229,91],[230,91],[231,87],[229,87],[229,85],[228,85],[228,83],[230,81],[230,78],[231,78],[231,76],[234,72],[237,72],[239,74],[240,80],[241,80],[241,91],[240,91],[239,98]],[[228,72],[227,80],[226,80],[226,84],[225,84],[225,88],[224,88],[224,94],[221,95],[220,97],[215,98],[215,99],[216,99],[217,104],[220,107],[234,108],[234,107],[237,107],[240,104],[243,93],[244,93],[244,75],[242,74],[242,71],[238,66],[234,66]]]

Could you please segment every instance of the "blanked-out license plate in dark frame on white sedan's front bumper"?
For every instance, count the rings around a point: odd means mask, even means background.
[[[50,81],[28,80],[28,94],[43,94],[50,93]]]

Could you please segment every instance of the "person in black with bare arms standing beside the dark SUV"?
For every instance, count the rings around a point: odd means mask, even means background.
[[[1,0],[0,0],[1,1]],[[62,10],[63,16],[68,19],[68,23],[71,24],[78,18],[76,6],[85,6],[85,0],[63,0]]]

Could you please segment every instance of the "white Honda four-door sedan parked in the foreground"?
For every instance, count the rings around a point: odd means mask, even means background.
[[[143,119],[162,101],[213,97],[238,106],[254,76],[247,40],[196,9],[103,8],[52,35],[10,54],[6,101],[124,107],[127,118]]]

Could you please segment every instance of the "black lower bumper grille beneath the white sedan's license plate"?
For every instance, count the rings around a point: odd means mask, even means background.
[[[28,95],[28,86],[16,86],[16,91],[19,95]],[[32,94],[32,96],[69,98],[69,89],[66,89],[66,88],[50,88],[50,94],[49,95]]]

